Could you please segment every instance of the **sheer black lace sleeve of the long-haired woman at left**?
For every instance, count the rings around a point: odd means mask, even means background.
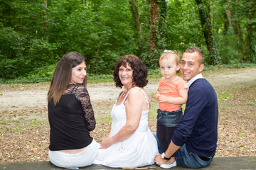
[[[90,96],[85,89],[84,86],[78,86],[77,91],[75,91],[75,97],[78,98],[78,101],[80,101],[82,105],[82,110],[85,112],[85,122],[87,129],[89,131],[92,131],[95,129],[95,115],[92,109],[92,104],[90,103]]]

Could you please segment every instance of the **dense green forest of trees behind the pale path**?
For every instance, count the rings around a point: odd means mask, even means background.
[[[70,51],[92,77],[111,77],[127,54],[154,74],[161,52],[191,45],[207,68],[246,67],[256,62],[255,16],[255,0],[0,0],[0,82],[50,81]]]

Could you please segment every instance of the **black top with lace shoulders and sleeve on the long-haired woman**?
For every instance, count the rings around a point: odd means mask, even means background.
[[[80,149],[92,142],[90,131],[95,129],[95,116],[87,89],[71,84],[54,106],[48,103],[50,147],[52,151]]]

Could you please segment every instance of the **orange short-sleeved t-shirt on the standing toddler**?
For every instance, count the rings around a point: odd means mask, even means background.
[[[178,77],[174,81],[166,81],[165,77],[162,77],[159,81],[160,94],[169,97],[178,97],[178,91],[181,89],[188,89],[186,81],[181,77]],[[161,111],[178,111],[181,105],[171,104],[171,103],[159,103],[159,109]]]

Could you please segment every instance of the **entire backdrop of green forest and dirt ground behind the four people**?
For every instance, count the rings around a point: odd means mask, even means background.
[[[255,16],[255,0],[0,0],[0,162],[48,161],[46,95],[67,52],[87,58],[100,142],[120,90],[110,80],[116,60],[134,54],[146,64],[156,131],[161,52],[191,45],[203,50],[203,77],[218,96],[215,157],[255,157]]]

